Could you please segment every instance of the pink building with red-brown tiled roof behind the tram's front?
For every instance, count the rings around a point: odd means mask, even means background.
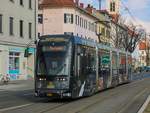
[[[43,0],[39,8],[39,35],[72,34],[98,41],[98,18],[90,5],[84,8],[78,0]]]

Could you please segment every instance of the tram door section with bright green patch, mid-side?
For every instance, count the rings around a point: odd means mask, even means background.
[[[108,87],[110,80],[110,52],[106,50],[99,50],[99,78],[103,83],[103,89]]]

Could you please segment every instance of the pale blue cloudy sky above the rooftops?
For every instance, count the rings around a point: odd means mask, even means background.
[[[95,8],[98,8],[99,0],[80,0],[85,4],[92,4]],[[102,9],[106,9],[106,0],[102,1]],[[150,0],[121,0],[121,15],[125,17],[129,22],[135,25],[140,25],[148,33],[150,33]],[[129,15],[126,10],[127,7],[133,15],[134,19]]]

